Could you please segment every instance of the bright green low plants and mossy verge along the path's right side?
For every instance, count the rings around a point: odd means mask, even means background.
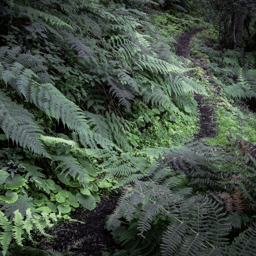
[[[217,31],[214,28],[205,29],[202,32],[197,33],[196,36],[192,38],[190,45],[191,56],[195,58],[195,65],[197,66],[197,63],[201,63],[201,65],[205,65],[206,67],[205,70],[196,67],[193,75],[200,78],[200,83],[208,92],[211,99],[210,104],[214,108],[217,137],[212,141],[215,140],[216,142],[225,145],[229,144],[229,141],[224,139],[224,137],[238,136],[251,143],[256,143],[255,114],[249,110],[242,110],[240,107],[235,107],[235,103],[237,102],[232,99],[232,96],[227,93],[225,86],[221,83],[221,81],[225,79],[225,76],[228,76],[228,74],[224,75],[224,70],[221,72],[215,71],[214,75],[210,73],[214,71],[213,67],[216,65],[214,61],[217,62],[218,65],[223,65],[222,62],[226,58],[221,57],[220,51],[213,50],[214,45],[212,48],[206,48],[206,45],[211,41],[217,42]],[[217,47],[217,44],[215,44],[215,47]],[[224,53],[225,52],[231,54],[232,50],[224,51]],[[209,54],[209,56],[207,54]],[[226,61],[229,60],[226,59]],[[228,79],[226,78],[226,83],[227,82]],[[236,90],[236,88],[233,88],[232,90]]]

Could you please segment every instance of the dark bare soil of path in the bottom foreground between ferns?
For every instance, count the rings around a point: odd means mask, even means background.
[[[53,248],[63,255],[101,256],[102,251],[113,253],[116,243],[110,232],[104,229],[104,222],[107,215],[110,215],[116,208],[117,199],[120,195],[112,195],[109,198],[101,198],[92,211],[78,208],[71,214],[71,218],[83,221],[66,221],[58,223],[50,235],[56,236],[53,241],[45,240],[42,248]],[[72,254],[73,255],[73,254]]]

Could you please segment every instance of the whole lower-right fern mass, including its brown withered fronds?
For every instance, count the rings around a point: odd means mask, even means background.
[[[161,154],[165,152],[160,149],[156,154],[159,151]],[[255,200],[254,181],[248,178],[248,173],[253,173],[254,168],[248,166],[242,155],[238,157],[236,153],[230,153],[230,148],[227,148],[227,153],[223,148],[213,151],[205,142],[173,147],[168,154],[170,159],[164,161],[173,171],[162,164],[161,168],[155,167],[149,172],[144,182],[130,179],[135,184],[123,191],[119,205],[107,220],[107,228],[114,230],[113,234],[124,246],[133,244],[125,247],[126,251],[138,248],[143,254],[151,251],[149,244],[143,245],[148,235],[156,230],[154,223],[163,218],[168,220],[167,226],[161,230],[161,238],[152,253],[158,255],[161,248],[163,255],[222,255],[229,248],[226,236],[231,226],[241,227],[239,214],[244,210],[245,198]],[[109,161],[113,162],[115,169],[118,160],[112,157]],[[247,178],[245,169],[248,169]],[[142,177],[139,174],[137,172],[137,179]],[[193,190],[204,191],[205,188],[209,196],[193,193]],[[226,216],[223,206],[231,212],[229,215]],[[131,226],[132,236],[119,236],[119,232],[128,232],[128,229],[119,229],[122,217],[130,225],[135,225]],[[134,239],[136,235],[139,237]],[[246,243],[246,238],[242,242]],[[239,242],[237,246],[240,247]],[[239,248],[235,248],[233,254],[236,250]],[[253,250],[248,248],[247,255]]]

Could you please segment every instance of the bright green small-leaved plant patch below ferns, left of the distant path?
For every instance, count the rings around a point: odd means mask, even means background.
[[[184,119],[181,115],[170,115],[163,108],[149,108],[142,101],[136,101],[133,111],[126,111],[123,115],[132,124],[129,136],[134,150],[143,150],[154,147],[171,147],[182,144],[188,138],[193,138],[198,131],[198,117],[196,102],[193,111],[194,116]]]

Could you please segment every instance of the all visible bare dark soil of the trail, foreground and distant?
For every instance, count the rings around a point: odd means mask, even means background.
[[[192,29],[178,38],[176,45],[176,55],[188,57],[190,53],[191,38],[201,31]],[[198,60],[200,63],[200,60]],[[200,63],[200,67],[205,69],[206,65]],[[213,108],[209,105],[209,99],[205,96],[196,94],[194,99],[198,104],[200,114],[200,130],[196,140],[213,137],[215,135],[215,115]],[[113,252],[116,243],[110,232],[104,229],[104,222],[107,215],[110,215],[116,208],[118,194],[108,198],[101,198],[96,208],[92,211],[86,209],[76,209],[71,214],[71,218],[80,222],[66,221],[58,223],[50,235],[55,236],[53,240],[45,240],[42,243],[44,248],[53,248],[61,251],[64,255],[84,255],[101,256],[102,251]]]

